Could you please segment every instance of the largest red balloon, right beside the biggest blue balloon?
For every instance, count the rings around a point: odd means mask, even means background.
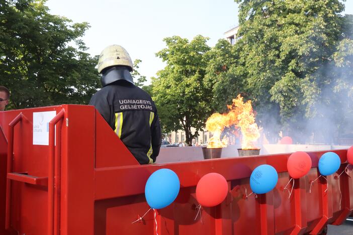
[[[202,206],[216,206],[227,196],[228,184],[218,173],[204,175],[196,186],[196,199]]]

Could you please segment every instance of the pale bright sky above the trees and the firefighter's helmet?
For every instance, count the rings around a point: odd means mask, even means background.
[[[155,53],[165,48],[163,38],[174,35],[192,40],[209,37],[209,46],[238,25],[238,6],[233,0],[48,0],[53,15],[91,26],[83,41],[92,56],[109,45],[123,46],[132,60],[140,59],[141,75],[149,78],[164,68]],[[345,14],[353,14],[353,0],[345,3]]]

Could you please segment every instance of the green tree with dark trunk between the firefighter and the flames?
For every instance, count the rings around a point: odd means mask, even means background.
[[[156,53],[167,64],[152,78],[163,132],[183,129],[189,146],[211,112],[212,92],[205,85],[207,40],[200,35],[190,42],[179,36],[165,38],[167,47]],[[194,134],[192,127],[197,130]]]

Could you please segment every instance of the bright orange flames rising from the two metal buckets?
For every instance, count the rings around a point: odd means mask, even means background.
[[[232,105],[227,105],[229,112],[213,113],[206,122],[206,129],[213,133],[207,148],[227,147],[228,139],[221,140],[221,134],[224,128],[235,126],[240,128],[242,134],[242,149],[257,149],[253,142],[260,137],[259,128],[255,123],[255,114],[252,111],[251,100],[243,102],[240,94],[233,99]]]

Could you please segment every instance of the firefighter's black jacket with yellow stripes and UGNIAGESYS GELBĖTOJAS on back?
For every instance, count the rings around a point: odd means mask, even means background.
[[[150,95],[118,80],[96,92],[90,101],[140,164],[155,162],[161,145],[157,109]]]

